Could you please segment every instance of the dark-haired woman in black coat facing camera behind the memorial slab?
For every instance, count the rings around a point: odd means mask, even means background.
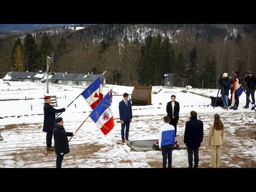
[[[179,120],[180,104],[176,100],[176,96],[171,96],[171,101],[167,103],[166,112],[167,116],[170,117],[170,125],[173,125],[175,128],[175,137],[177,137],[177,123]]]

